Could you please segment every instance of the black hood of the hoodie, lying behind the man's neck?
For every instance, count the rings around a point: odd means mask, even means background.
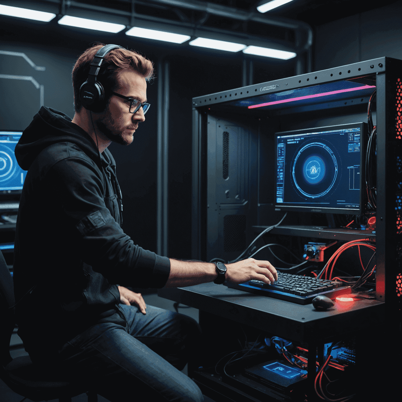
[[[15,157],[23,170],[28,170],[35,158],[48,146],[71,142],[89,158],[99,163],[98,151],[92,138],[63,112],[42,106],[31,124],[23,131],[15,146]]]

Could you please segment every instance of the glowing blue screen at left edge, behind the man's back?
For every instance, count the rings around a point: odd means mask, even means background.
[[[14,149],[22,131],[0,131],[0,190],[22,190],[26,170],[17,163]]]

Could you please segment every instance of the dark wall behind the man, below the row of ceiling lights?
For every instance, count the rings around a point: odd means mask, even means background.
[[[31,76],[44,86],[44,105],[74,116],[71,72],[77,57],[95,41],[133,48],[154,62],[170,64],[169,109],[169,244],[168,254],[191,258],[191,102],[194,96],[242,85],[243,54],[199,49],[63,27],[56,21],[37,23],[0,16],[0,74]],[[292,76],[294,60],[254,57],[254,82]],[[0,78],[0,129],[24,129],[40,107],[40,90],[29,80]],[[156,251],[158,77],[148,84],[151,108],[128,147],[111,144],[123,193],[123,229],[135,244]]]

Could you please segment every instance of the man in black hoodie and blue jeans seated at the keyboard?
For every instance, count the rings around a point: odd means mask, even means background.
[[[202,401],[199,388],[179,371],[187,361],[201,361],[198,324],[147,309],[141,294],[125,286],[211,282],[217,268],[158,256],[121,229],[121,193],[107,147],[133,142],[149,107],[153,67],[134,51],[109,51],[97,76],[104,103],[88,110],[80,87],[102,47],[87,49],[74,66],[74,118],[42,107],[16,146],[18,164],[28,170],[14,248],[18,334],[35,364],[66,368],[111,401],[135,392],[151,400]],[[234,283],[277,279],[268,261],[226,268],[226,280]]]

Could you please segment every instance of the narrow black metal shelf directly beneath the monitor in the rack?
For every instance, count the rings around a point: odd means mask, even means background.
[[[261,233],[268,226],[252,226],[254,233]],[[369,239],[375,242],[375,232],[370,229],[353,230],[344,228],[327,228],[325,226],[293,226],[285,225],[273,228],[269,234],[281,234],[287,236],[312,237],[321,239],[335,239],[350,242],[357,239]]]

